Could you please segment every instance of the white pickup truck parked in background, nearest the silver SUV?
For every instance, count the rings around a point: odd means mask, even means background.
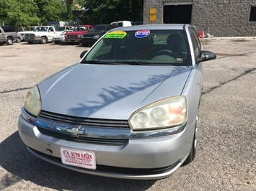
[[[26,32],[24,39],[28,44],[33,44],[34,42],[45,44],[46,42],[51,42],[53,37],[58,36],[61,32],[57,32],[53,26],[37,26],[34,31]]]

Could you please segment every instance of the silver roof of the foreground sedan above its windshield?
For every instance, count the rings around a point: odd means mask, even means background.
[[[184,29],[185,24],[141,24],[141,25],[133,25],[129,27],[118,27],[112,29],[112,31],[118,31],[121,28],[123,30],[152,30],[152,29]]]

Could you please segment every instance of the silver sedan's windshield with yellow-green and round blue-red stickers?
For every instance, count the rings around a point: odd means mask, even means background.
[[[192,65],[183,30],[114,31],[107,33],[82,63]]]

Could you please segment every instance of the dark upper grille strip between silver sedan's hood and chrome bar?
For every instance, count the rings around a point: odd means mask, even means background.
[[[80,125],[88,127],[100,127],[109,129],[130,129],[127,120],[113,120],[102,118],[83,118],[76,116],[67,116],[49,111],[41,111],[40,118],[50,121],[56,121],[63,124]]]

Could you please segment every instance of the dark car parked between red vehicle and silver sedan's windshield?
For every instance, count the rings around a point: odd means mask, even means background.
[[[89,32],[81,36],[81,45],[84,47],[93,45],[103,34],[118,27],[112,24],[97,24]]]

